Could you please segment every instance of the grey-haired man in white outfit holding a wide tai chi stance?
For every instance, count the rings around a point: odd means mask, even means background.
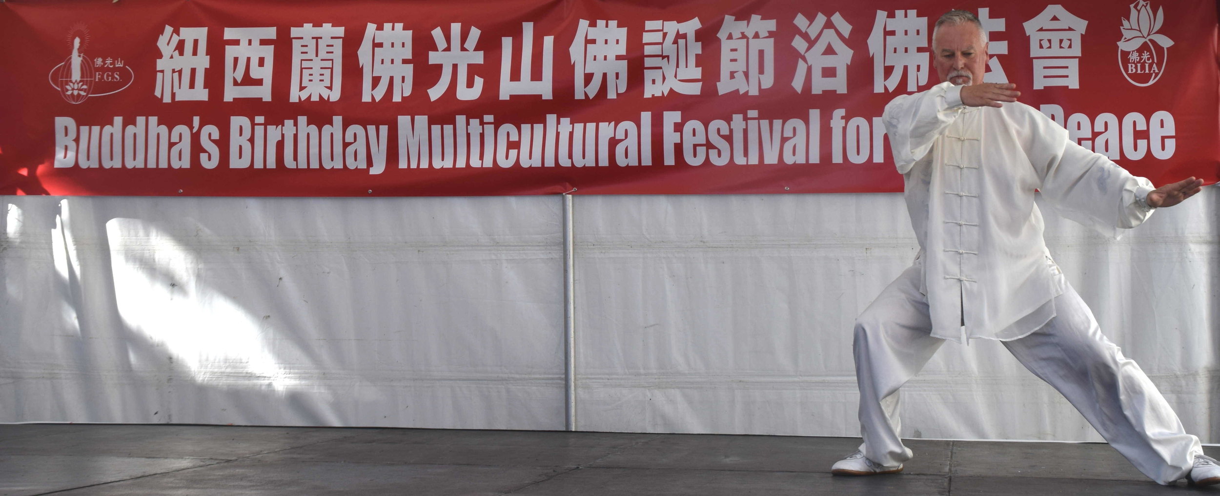
[[[1181,203],[1203,182],[1153,189],[1016,103],[1015,84],[983,83],[987,33],[967,11],[937,21],[932,56],[943,82],[898,97],[884,111],[920,254],[856,320],[864,443],[831,472],[900,472],[911,451],[898,437],[898,388],[944,340],[989,338],[1003,341],[1157,483],[1220,483],[1220,465],[1102,335],[1050,259],[1033,203],[1039,189],[1069,217],[1113,231]]]

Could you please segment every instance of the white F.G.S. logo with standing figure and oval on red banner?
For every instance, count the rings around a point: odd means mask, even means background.
[[[132,84],[135,73],[123,59],[92,59],[84,54],[89,45],[89,31],[83,26],[72,27],[67,38],[72,43],[72,54],[46,75],[46,81],[65,100],[79,104],[89,97],[122,92]]]

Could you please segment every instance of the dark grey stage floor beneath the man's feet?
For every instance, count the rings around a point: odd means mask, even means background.
[[[1185,495],[1107,445],[911,440],[899,475],[831,476],[856,439],[0,424],[0,495]],[[1209,454],[1220,448],[1208,447]]]

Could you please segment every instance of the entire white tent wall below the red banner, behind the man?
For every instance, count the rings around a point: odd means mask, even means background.
[[[562,202],[4,197],[0,421],[565,426]],[[858,435],[899,194],[576,197],[580,430]],[[1105,334],[1220,441],[1220,192],[1119,241],[1047,211]],[[903,435],[1099,440],[996,342]]]

